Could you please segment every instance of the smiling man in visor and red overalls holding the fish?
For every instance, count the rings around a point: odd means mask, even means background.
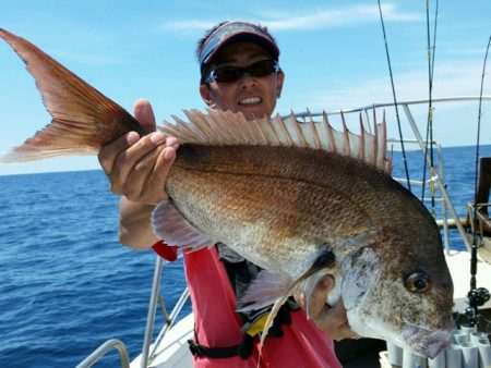
[[[241,112],[250,120],[270,116],[279,98],[285,73],[279,49],[265,27],[248,22],[225,22],[200,40],[200,94],[212,109]],[[139,100],[135,118],[155,130],[151,105]],[[152,232],[149,218],[155,205],[168,198],[166,177],[176,158],[177,139],[155,132],[140,137],[131,132],[100,150],[99,161],[109,176],[111,191],[123,195],[120,203],[120,241],[136,249],[153,246],[160,255],[168,248]],[[184,253],[187,280],[195,317],[195,367],[256,367],[258,332],[267,310],[236,312],[236,298],[261,269],[224,244]],[[352,336],[339,302],[325,304],[334,281],[318,285],[309,321],[294,300],[278,314],[261,352],[261,365],[271,367],[340,367],[333,338]],[[298,300],[301,304],[301,300]],[[327,334],[326,334],[326,333]]]

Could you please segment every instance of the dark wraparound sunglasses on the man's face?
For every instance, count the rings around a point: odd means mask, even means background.
[[[209,72],[205,83],[231,83],[237,82],[243,77],[246,73],[251,76],[263,77],[273,73],[279,72],[278,62],[266,59],[258,61],[249,66],[220,66]]]

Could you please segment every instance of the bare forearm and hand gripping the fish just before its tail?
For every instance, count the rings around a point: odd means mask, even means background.
[[[147,100],[135,102],[134,116],[155,131],[155,116]],[[144,137],[130,132],[103,147],[98,159],[110,181],[110,189],[121,195],[120,242],[135,249],[145,249],[158,240],[152,232],[151,213],[155,205],[168,199],[165,184],[176,159],[178,140],[159,132]]]

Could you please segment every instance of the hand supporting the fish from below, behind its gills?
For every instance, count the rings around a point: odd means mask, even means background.
[[[327,294],[334,289],[335,281],[332,277],[326,275],[321,279],[312,293],[310,300],[309,315],[313,322],[327,333],[334,340],[343,340],[357,338],[358,335],[351,331],[346,316],[346,309],[343,300],[339,299],[334,306],[325,303]],[[303,298],[296,297],[297,303],[304,309]]]

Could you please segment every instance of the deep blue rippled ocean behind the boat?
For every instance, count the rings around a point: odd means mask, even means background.
[[[474,200],[475,156],[474,147],[443,150],[447,191],[462,217]],[[491,146],[481,156],[491,156]],[[410,179],[420,180],[421,154],[407,158]],[[405,176],[400,162],[394,152],[397,177]],[[141,352],[155,255],[118,242],[119,199],[108,187],[97,170],[0,176],[0,367],[75,367],[115,338],[131,359]],[[451,240],[464,248],[456,231]],[[168,310],[183,286],[182,262],[166,265],[160,290]],[[157,314],[156,330],[163,322]],[[117,352],[95,367],[120,367]]]

